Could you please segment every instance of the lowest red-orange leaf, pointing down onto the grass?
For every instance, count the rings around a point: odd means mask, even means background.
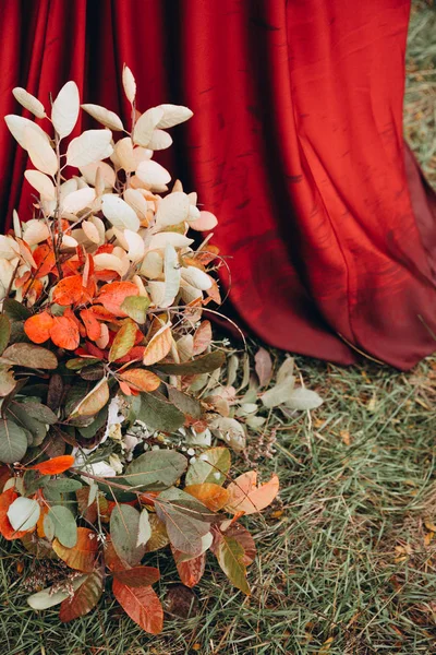
[[[164,610],[160,600],[150,586],[130,587],[113,580],[112,592],[123,610],[143,630],[159,634],[164,627]]]

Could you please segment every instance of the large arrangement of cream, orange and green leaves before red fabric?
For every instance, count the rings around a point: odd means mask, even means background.
[[[211,442],[238,451],[245,439],[225,398],[204,393],[226,359],[204,320],[220,302],[222,260],[202,236],[217,219],[179,181],[169,191],[153,158],[192,112],[141,114],[126,67],[122,83],[130,131],[82,105],[102,127],[71,139],[74,82],[49,114],[15,88],[39,121],[5,117],[34,167],[24,174],[34,212],[27,222],[14,212],[0,236],[0,533],[21,539],[36,569],[39,558],[66,564],[64,580],[28,598],[33,608],[60,604],[70,621],[111,580],[126,614],[158,633],[159,571],[147,553],[169,547],[192,587],[211,551],[249,594],[255,547],[238,519],[267,507],[278,479],[258,486],[249,471],[231,480],[231,451]]]

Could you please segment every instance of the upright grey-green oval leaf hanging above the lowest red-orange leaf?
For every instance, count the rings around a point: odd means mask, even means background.
[[[131,567],[145,555],[144,545],[137,546],[140,512],[126,504],[118,504],[110,515],[110,536],[118,557]]]

